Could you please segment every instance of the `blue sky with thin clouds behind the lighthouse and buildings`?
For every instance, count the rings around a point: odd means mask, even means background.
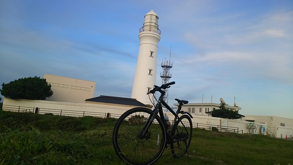
[[[159,85],[172,46],[170,104],[235,97],[240,114],[293,118],[292,0],[1,0],[0,83],[52,74],[96,82],[95,96],[131,97],[151,9]]]

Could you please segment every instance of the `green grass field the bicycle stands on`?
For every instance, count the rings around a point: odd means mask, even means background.
[[[112,146],[115,119],[0,111],[0,165],[124,165]],[[166,148],[157,165],[293,165],[293,141],[193,129],[189,157]]]

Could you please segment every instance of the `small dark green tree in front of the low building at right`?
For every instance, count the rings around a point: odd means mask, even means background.
[[[225,102],[222,102],[219,109],[212,108],[211,116],[225,119],[240,119],[242,115],[238,113],[238,110],[230,110],[226,108]]]

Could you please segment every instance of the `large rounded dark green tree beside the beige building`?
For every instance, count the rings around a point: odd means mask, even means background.
[[[51,84],[40,77],[21,78],[2,84],[1,95],[11,99],[45,100],[53,95]]]

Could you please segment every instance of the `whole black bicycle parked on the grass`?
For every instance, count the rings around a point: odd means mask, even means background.
[[[144,107],[129,109],[115,124],[112,136],[113,146],[118,157],[127,164],[153,164],[168,146],[174,158],[188,155],[193,117],[181,110],[182,105],[187,104],[188,101],[175,99],[179,103],[176,112],[164,101],[166,93],[164,89],[172,84],[175,82],[161,86],[154,85],[154,88],[147,93],[153,94],[153,98],[157,101],[153,110]],[[161,93],[158,100],[155,97],[157,91]],[[154,101],[152,103],[154,104]],[[165,121],[163,106],[175,116],[170,128]]]

